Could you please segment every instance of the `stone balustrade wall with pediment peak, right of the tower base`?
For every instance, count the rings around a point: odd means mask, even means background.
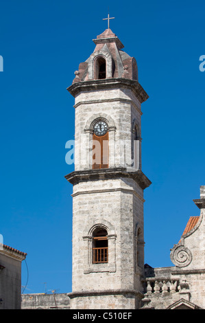
[[[168,309],[177,302],[186,307],[205,309],[205,273],[177,267],[145,269],[143,308]]]

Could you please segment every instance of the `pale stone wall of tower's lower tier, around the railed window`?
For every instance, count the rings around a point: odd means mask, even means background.
[[[143,230],[143,190],[132,180],[73,187],[73,291],[141,289],[134,280],[136,224]],[[92,228],[108,231],[106,264],[92,263]]]

